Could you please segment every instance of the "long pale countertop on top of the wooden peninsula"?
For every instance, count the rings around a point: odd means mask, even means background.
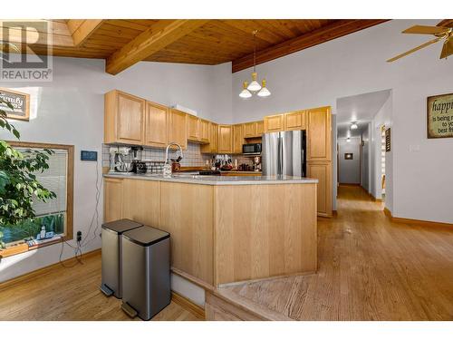
[[[316,179],[294,176],[200,176],[196,174],[176,174],[165,178],[157,174],[106,173],[104,177],[114,179],[159,180],[177,183],[205,185],[256,185],[256,184],[304,184],[317,183]]]

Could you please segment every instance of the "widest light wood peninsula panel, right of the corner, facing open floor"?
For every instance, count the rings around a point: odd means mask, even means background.
[[[316,271],[316,185],[215,188],[215,284]]]

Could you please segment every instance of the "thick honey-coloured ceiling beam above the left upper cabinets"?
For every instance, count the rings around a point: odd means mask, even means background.
[[[189,34],[209,20],[160,20],[119,51],[111,54],[105,71],[117,74]]]

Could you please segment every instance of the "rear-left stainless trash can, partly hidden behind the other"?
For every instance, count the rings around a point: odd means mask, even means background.
[[[102,224],[101,291],[106,296],[113,294],[121,298],[121,238],[125,231],[141,226],[143,224],[130,219],[118,219]]]

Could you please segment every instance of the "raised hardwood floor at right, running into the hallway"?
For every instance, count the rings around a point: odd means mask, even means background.
[[[360,187],[319,219],[317,274],[225,287],[296,320],[453,320],[453,229],[393,223]]]

